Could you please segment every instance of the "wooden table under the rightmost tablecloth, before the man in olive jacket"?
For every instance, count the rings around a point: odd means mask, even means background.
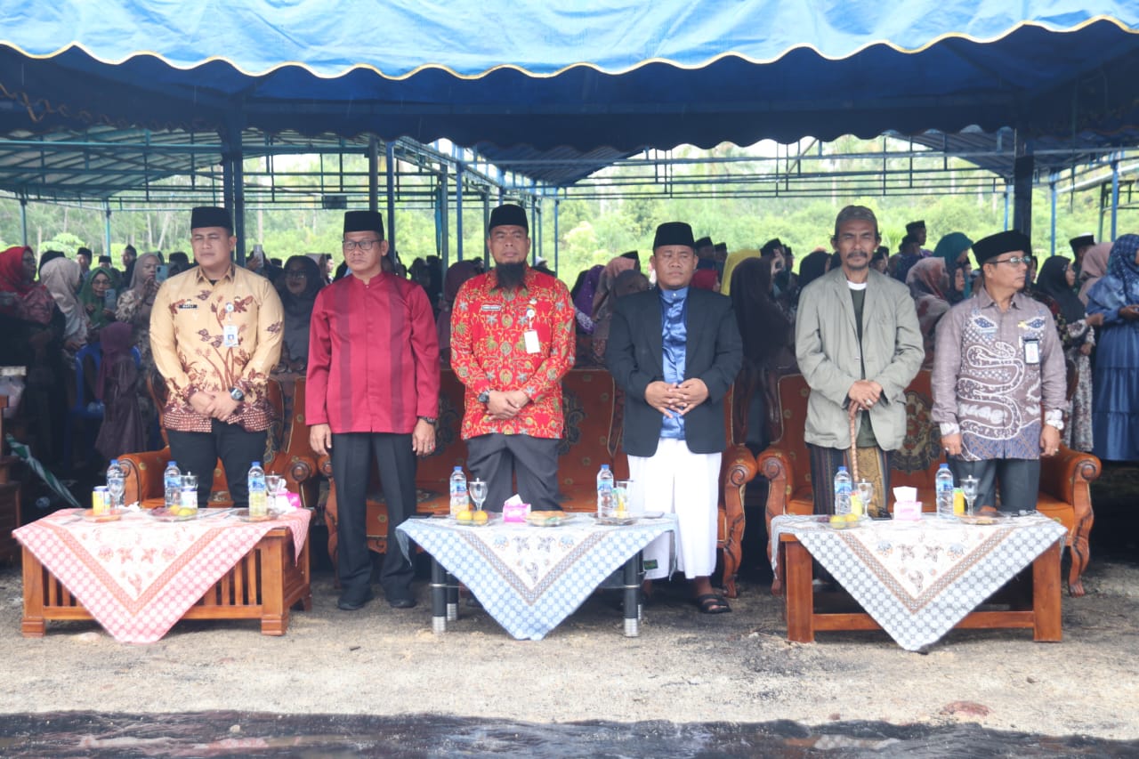
[[[826,611],[817,607],[812,586],[811,553],[793,534],[779,536],[779,560],[784,568],[787,639],[812,643],[817,630],[880,630],[866,612]],[[1038,642],[1063,639],[1060,630],[1060,544],[1046,549],[1032,562],[1032,602],[1026,609],[974,611],[954,629],[1031,628]]]

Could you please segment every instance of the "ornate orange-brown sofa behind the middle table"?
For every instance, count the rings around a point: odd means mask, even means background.
[[[464,387],[454,373],[443,369],[440,386],[439,429],[435,451],[419,460],[416,473],[417,511],[420,514],[446,514],[449,479],[456,466],[466,468],[467,447],[460,435]],[[621,479],[629,475],[624,454],[618,452],[622,402],[613,377],[605,369],[572,369],[563,381],[565,431],[558,448],[558,490],[567,512],[593,512],[597,508],[597,471],[609,464]],[[325,520],[328,523],[328,553],[336,560],[336,482],[331,460],[325,456],[321,472],[331,481]],[[755,476],[755,458],[743,446],[724,452],[721,470],[718,548],[723,557],[723,583],[729,597],[736,597],[740,545],[744,537],[744,489]],[[469,476],[469,472],[468,472]],[[368,547],[387,550],[387,508],[372,466],[368,488],[366,525]]]

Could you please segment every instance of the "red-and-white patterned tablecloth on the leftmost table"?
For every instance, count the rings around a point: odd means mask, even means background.
[[[59,511],[13,534],[121,643],[154,643],[267,532],[293,532],[294,561],[309,533],[308,509],[267,522],[231,512],[161,522],[131,512],[117,522],[87,522]]]

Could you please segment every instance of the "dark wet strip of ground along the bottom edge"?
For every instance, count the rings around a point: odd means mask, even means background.
[[[1134,757],[1139,741],[1044,736],[976,725],[792,721],[677,725],[491,723],[409,715],[167,716],[67,712],[0,719],[6,757]]]

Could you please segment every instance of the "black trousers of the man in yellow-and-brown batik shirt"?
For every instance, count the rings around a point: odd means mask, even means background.
[[[213,471],[221,459],[229,495],[239,508],[249,506],[249,467],[265,456],[268,431],[248,432],[240,424],[210,421],[210,432],[167,430],[170,455],[182,474],[198,475],[198,507],[205,508],[213,490]]]

